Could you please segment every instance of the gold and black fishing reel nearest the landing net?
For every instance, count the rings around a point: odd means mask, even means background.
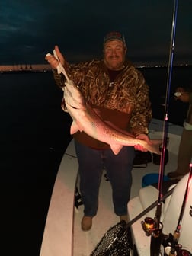
[[[158,238],[159,235],[162,235],[162,222],[158,222],[157,219],[152,219],[146,217],[144,221],[141,222],[142,229],[146,232],[146,236],[152,235],[154,238]]]

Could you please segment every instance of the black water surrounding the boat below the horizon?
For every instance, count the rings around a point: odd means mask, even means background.
[[[188,85],[191,67],[174,68],[171,94]],[[142,69],[155,118],[164,119],[167,68]],[[52,73],[0,75],[2,251],[36,256],[59,163],[69,144],[71,118],[60,108]],[[187,104],[170,98],[168,117],[182,124]],[[65,202],[63,202],[65,203]]]

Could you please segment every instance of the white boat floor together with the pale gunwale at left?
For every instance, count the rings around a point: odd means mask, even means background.
[[[162,126],[161,121],[152,120],[150,125],[152,139],[162,138]],[[169,127],[169,161],[165,166],[165,174],[168,171],[174,171],[177,166],[181,131],[181,126],[171,125]],[[133,168],[131,198],[139,194],[139,189],[142,187],[142,177],[145,174],[158,173],[158,171],[159,165],[153,163],[150,163],[147,168]],[[75,158],[72,141],[59,166],[46,219],[40,256],[88,256],[100,242],[104,233],[119,222],[119,218],[114,214],[110,183],[103,178],[100,187],[98,214],[93,219],[92,229],[83,232],[81,229],[83,206],[79,206],[78,210],[75,210],[73,206],[76,181],[78,184],[78,162]]]

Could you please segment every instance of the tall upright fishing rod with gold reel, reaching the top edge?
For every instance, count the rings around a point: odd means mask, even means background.
[[[173,57],[174,57],[174,40],[175,40],[175,29],[178,14],[178,0],[174,0],[174,10],[172,19],[172,29],[171,29],[171,43],[168,61],[168,77],[166,86],[166,97],[165,97],[165,114],[164,114],[164,126],[163,126],[163,139],[162,139],[162,155],[160,158],[160,168],[158,176],[158,203],[156,207],[155,218],[149,218],[149,222],[142,223],[142,228],[144,231],[151,235],[150,243],[150,256],[159,256],[160,246],[162,243],[162,229],[163,225],[160,222],[162,215],[162,184],[165,168],[165,149],[168,142],[168,105],[171,91],[171,75],[173,67]]]

